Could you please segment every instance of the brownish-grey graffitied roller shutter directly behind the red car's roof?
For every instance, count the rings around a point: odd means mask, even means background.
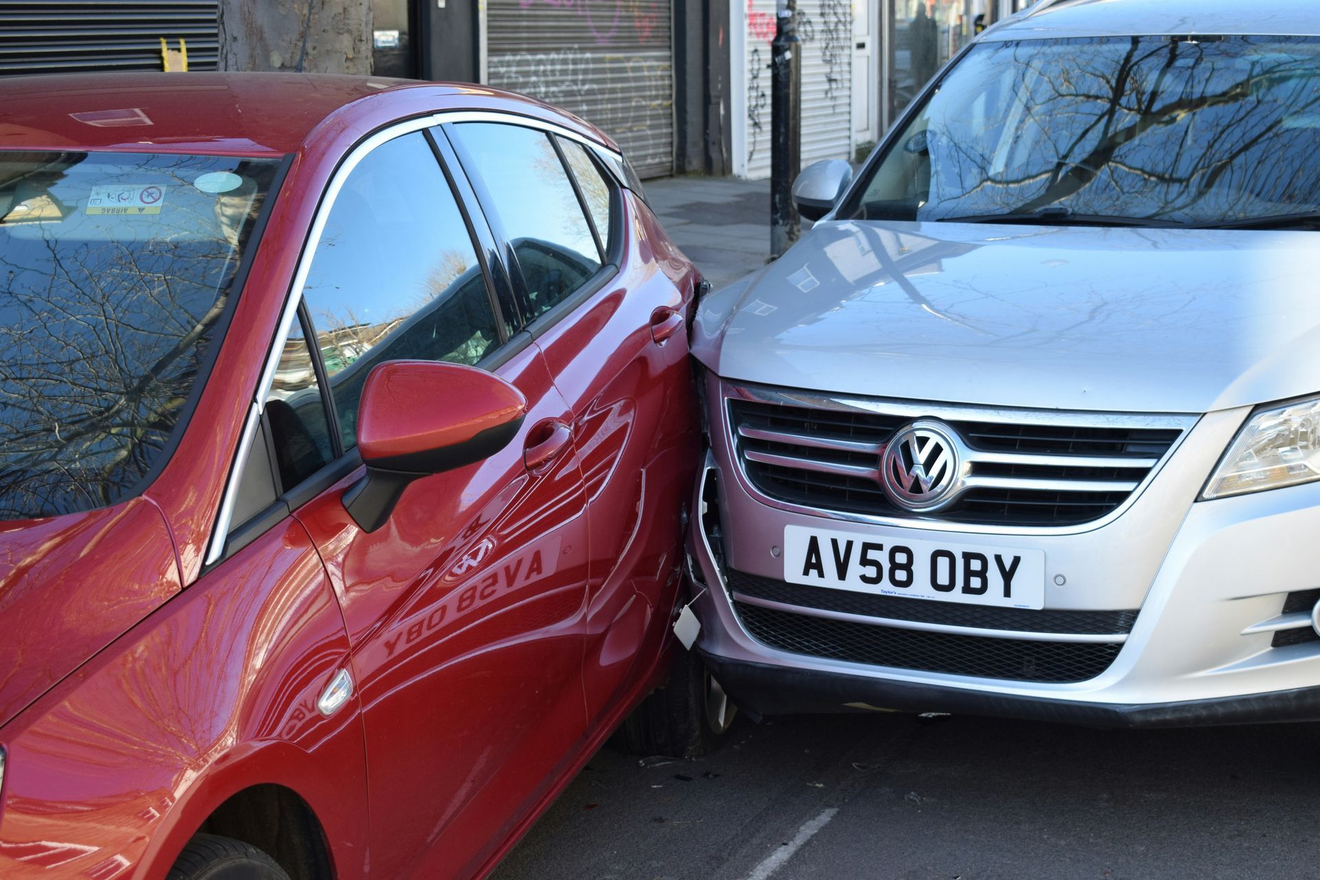
[[[487,78],[577,113],[642,177],[673,173],[671,0],[490,0]]]

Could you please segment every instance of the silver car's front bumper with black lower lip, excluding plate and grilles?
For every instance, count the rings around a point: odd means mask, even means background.
[[[1067,588],[1048,587],[1047,610],[1139,611],[1104,672],[1067,682],[850,662],[759,641],[735,610],[730,571],[781,577],[770,549],[785,525],[840,524],[760,503],[717,433],[694,509],[714,478],[718,519],[693,517],[689,536],[698,649],[735,702],[763,715],[898,708],[1118,727],[1320,719],[1320,640],[1274,646],[1288,595],[1320,588],[1320,486],[1195,503],[1245,414],[1204,417],[1137,503],[1101,528],[975,534],[1040,548],[1051,574],[1068,573]],[[713,522],[722,532],[718,561]]]

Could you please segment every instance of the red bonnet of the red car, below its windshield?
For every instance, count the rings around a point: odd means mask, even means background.
[[[0,724],[178,588],[165,521],[143,499],[0,524]]]

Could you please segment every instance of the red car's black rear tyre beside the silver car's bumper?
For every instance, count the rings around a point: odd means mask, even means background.
[[[616,741],[634,755],[698,757],[719,747],[737,714],[701,657],[676,648],[669,678],[623,722]]]

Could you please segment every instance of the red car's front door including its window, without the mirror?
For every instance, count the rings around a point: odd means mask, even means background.
[[[351,468],[362,385],[385,360],[488,368],[525,396],[528,414],[487,460],[411,484],[375,532],[343,505],[360,467],[296,516],[351,644],[372,876],[462,876],[585,731],[586,499],[572,413],[540,350],[508,338],[498,267],[478,257],[432,136],[376,140],[350,160],[301,290],[334,401],[334,451]]]

